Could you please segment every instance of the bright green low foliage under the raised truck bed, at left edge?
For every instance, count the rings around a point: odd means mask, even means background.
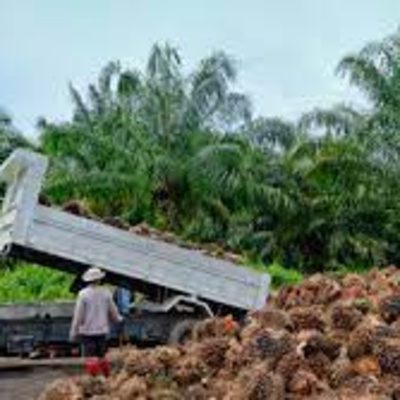
[[[0,271],[0,303],[73,299],[72,278],[50,268],[16,264]]]

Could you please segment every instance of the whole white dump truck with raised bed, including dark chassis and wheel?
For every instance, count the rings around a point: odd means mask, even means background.
[[[125,323],[132,340],[180,341],[199,319],[240,319],[265,304],[267,273],[41,204],[47,167],[26,149],[0,166],[0,252],[77,277],[95,265],[110,284],[141,293]],[[73,303],[1,305],[0,349],[67,341],[72,312]]]

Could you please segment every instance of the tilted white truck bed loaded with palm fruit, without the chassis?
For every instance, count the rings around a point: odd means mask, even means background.
[[[77,274],[97,265],[145,293],[163,288],[242,310],[265,304],[268,274],[38,204],[46,167],[43,156],[27,150],[0,167],[8,184],[0,215],[4,252]]]

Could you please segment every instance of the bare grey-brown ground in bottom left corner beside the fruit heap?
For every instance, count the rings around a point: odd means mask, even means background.
[[[35,400],[47,384],[72,374],[72,371],[50,368],[1,371],[0,399]]]

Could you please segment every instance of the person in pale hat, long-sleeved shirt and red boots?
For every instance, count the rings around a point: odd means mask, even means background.
[[[89,268],[82,276],[87,287],[78,294],[71,325],[71,340],[79,338],[86,357],[85,369],[91,375],[108,376],[110,366],[105,358],[107,336],[112,323],[122,321],[122,316],[112,299],[111,292],[101,286],[105,272]]]

